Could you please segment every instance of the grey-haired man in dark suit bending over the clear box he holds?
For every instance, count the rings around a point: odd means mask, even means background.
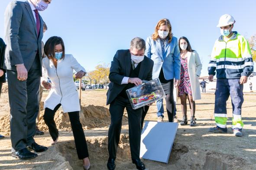
[[[133,38],[130,50],[118,50],[110,67],[110,84],[107,91],[107,105],[111,115],[108,131],[109,158],[107,168],[114,170],[117,146],[120,139],[124,108],[128,113],[130,150],[133,164],[138,170],[144,170],[145,165],[139,159],[141,137],[142,108],[133,110],[126,90],[142,84],[142,80],[152,79],[153,61],[146,57],[146,43],[142,38]]]

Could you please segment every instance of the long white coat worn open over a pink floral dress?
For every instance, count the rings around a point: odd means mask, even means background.
[[[191,83],[193,100],[201,99],[199,77],[201,75],[202,64],[196,51],[188,52],[188,74]]]

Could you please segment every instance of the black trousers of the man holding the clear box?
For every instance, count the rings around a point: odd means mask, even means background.
[[[140,137],[141,137],[141,115],[142,108],[134,110],[128,98],[117,96],[110,103],[109,111],[111,124],[108,130],[108,153],[110,159],[116,159],[117,146],[120,140],[123,111],[126,108],[129,123],[129,141],[132,159],[139,159]]]

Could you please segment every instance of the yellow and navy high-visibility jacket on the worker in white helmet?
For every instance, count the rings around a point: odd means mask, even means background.
[[[217,78],[239,79],[253,72],[253,58],[248,41],[236,31],[226,42],[221,35],[215,41],[208,64],[209,75]]]

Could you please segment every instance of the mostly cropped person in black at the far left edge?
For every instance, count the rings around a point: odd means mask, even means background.
[[[3,57],[4,57],[4,51],[5,51],[6,44],[4,43],[3,39],[0,38],[0,96],[1,96],[1,90],[3,83],[6,82],[6,70],[3,69]],[[3,139],[4,136],[0,135],[0,139]]]

